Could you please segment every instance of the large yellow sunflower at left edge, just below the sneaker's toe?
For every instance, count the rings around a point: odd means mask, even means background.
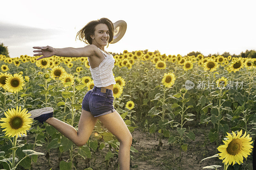
[[[1,128],[5,128],[3,131],[6,131],[4,134],[6,136],[14,137],[21,135],[27,135],[27,131],[31,127],[31,123],[33,122],[33,119],[29,118],[31,116],[30,113],[27,113],[28,111],[26,109],[23,109],[21,111],[21,107],[16,107],[16,110],[11,108],[11,110],[8,109],[8,111],[4,112],[4,115],[6,118],[1,118],[1,121],[4,123],[0,123]]]

